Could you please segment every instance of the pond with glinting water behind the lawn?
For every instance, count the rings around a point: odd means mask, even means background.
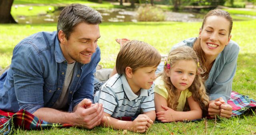
[[[103,22],[137,22],[136,11],[124,10],[119,8],[113,9],[98,9],[103,17]],[[57,23],[60,11],[52,14],[38,16],[17,16],[16,22],[19,24],[42,24],[42,23]],[[178,22],[201,22],[202,15],[191,13],[165,12],[166,21]]]

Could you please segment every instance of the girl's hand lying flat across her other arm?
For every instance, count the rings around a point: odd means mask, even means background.
[[[161,107],[163,109],[165,109],[165,111],[160,111],[160,112],[156,113],[157,119],[161,122],[175,121],[175,116],[176,116],[177,111],[174,111],[173,109],[171,109],[167,106],[164,106],[164,105],[161,105]]]

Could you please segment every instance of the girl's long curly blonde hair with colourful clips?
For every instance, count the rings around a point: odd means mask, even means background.
[[[168,66],[168,64],[170,64],[170,69],[172,69],[172,67],[175,66],[176,62],[180,60],[192,60],[197,65],[196,76],[194,78],[192,85],[188,87],[188,89],[192,92],[192,97],[194,98],[195,101],[199,103],[203,112],[206,112],[208,110],[209,97],[206,94],[204,81],[201,77],[201,74],[204,73],[204,68],[200,66],[200,63],[198,64],[198,57],[196,55],[196,52],[189,46],[180,46],[178,48],[175,48],[174,50],[171,50],[166,59],[166,65]],[[168,68],[167,66],[164,66],[164,68]],[[165,73],[165,71],[162,73],[162,78],[164,80],[165,87],[168,91],[168,107],[176,110],[179,98],[176,96],[177,89],[172,84],[170,77]]]

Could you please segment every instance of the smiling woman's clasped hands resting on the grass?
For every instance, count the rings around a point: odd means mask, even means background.
[[[220,117],[230,118],[232,115],[232,107],[231,105],[225,103],[222,97],[210,101],[208,113],[210,117],[214,118],[215,115],[219,115]]]

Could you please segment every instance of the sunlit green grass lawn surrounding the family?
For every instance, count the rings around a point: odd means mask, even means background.
[[[233,90],[256,99],[255,35],[256,20],[235,21],[232,40],[240,46],[238,67],[233,82]],[[142,40],[153,45],[161,54],[167,54],[170,48],[183,39],[198,36],[200,22],[119,22],[100,24],[101,62],[104,68],[112,68],[119,46],[115,38]],[[14,46],[23,38],[40,31],[54,31],[56,24],[0,24],[0,66],[10,64]],[[18,134],[132,134],[129,131],[116,131],[112,128],[96,127],[92,130],[82,128],[48,129],[23,131]],[[256,115],[245,115],[230,119],[202,120],[188,123],[156,123],[147,134],[256,134]]]

